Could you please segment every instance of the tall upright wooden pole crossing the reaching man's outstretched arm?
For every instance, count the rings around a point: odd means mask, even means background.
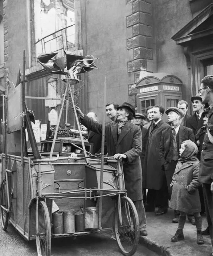
[[[105,138],[105,105],[106,105],[106,93],[107,93],[107,78],[104,79],[104,99],[103,99],[103,122],[102,122],[102,139],[101,139],[101,163],[100,163],[100,199],[99,199],[99,218],[98,224],[101,228],[102,217],[102,194],[103,194],[103,176],[104,176],[104,138]]]

